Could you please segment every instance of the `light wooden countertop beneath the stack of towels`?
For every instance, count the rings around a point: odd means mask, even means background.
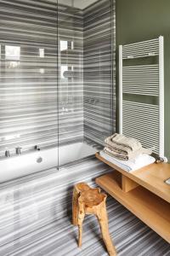
[[[164,183],[164,181],[170,177],[170,164],[154,163],[137,171],[126,172],[108,160],[105,160],[105,158],[100,156],[99,153],[96,153],[96,157],[105,162],[108,166],[114,168],[116,171],[121,172],[124,176],[127,176],[134,182],[139,183],[139,185],[143,186],[145,189],[150,190],[165,201],[170,202],[170,185]]]

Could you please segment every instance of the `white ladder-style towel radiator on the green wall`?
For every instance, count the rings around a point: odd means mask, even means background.
[[[153,57],[155,58],[154,64],[151,61]],[[137,58],[138,60],[133,60],[133,65],[129,64],[129,60],[132,63],[132,59]],[[142,64],[138,65],[136,62]],[[134,101],[132,95],[135,95]],[[154,152],[164,157],[162,36],[119,46],[119,132],[139,139],[144,147],[154,147]]]

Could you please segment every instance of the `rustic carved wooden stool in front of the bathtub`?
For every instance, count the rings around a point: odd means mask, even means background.
[[[100,193],[100,189],[92,189],[87,183],[77,183],[73,191],[72,224],[78,226],[78,246],[82,246],[82,223],[86,214],[94,214],[99,221],[105,246],[110,256],[116,255],[109,234],[108,218],[105,207],[107,195]]]

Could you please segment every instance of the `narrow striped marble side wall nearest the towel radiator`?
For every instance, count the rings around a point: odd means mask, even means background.
[[[84,136],[96,143],[116,131],[115,1],[84,10]]]

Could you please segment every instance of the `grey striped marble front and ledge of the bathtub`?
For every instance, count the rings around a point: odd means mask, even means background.
[[[108,172],[108,166],[91,159],[0,184],[0,247],[57,221],[71,209],[74,183]],[[1,252],[1,250],[0,250]],[[1,255],[1,253],[0,253]]]

